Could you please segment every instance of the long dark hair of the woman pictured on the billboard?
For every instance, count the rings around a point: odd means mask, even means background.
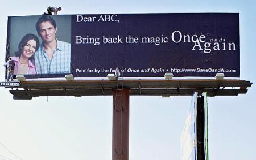
[[[19,42],[19,50],[15,52],[15,55],[18,56],[20,58],[20,55],[22,55],[22,50],[23,50],[23,47],[27,45],[27,42],[29,40],[35,40],[36,41],[36,49],[35,50],[38,50],[39,48],[39,40],[38,40],[38,37],[35,36],[35,34],[26,34],[22,40]],[[35,54],[34,54],[35,55]],[[29,59],[30,60],[33,60],[34,61],[34,55],[32,55],[32,57],[30,57]]]

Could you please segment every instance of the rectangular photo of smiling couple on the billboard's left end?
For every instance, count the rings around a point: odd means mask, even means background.
[[[57,28],[57,24],[61,25]],[[16,75],[33,78],[70,73],[70,42],[69,15],[9,17],[6,59],[11,57],[15,63],[14,78]]]

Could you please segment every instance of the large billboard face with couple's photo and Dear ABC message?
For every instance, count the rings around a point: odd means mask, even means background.
[[[14,16],[6,60],[27,78],[240,77],[238,14]]]

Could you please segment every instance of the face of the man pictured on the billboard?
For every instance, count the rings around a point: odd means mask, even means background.
[[[55,33],[57,28],[51,24],[50,21],[44,21],[40,23],[40,36],[44,43],[49,43],[55,40]]]

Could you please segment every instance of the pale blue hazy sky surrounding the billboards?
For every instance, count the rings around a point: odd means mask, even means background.
[[[251,1],[3,1],[0,62],[7,17],[59,14],[228,12],[240,14],[240,79],[256,82],[256,2]],[[5,68],[0,68],[0,81]],[[0,159],[112,159],[112,96],[13,100],[0,88]],[[209,159],[256,160],[254,84],[246,94],[209,97]],[[180,159],[180,136],[191,96],[130,96],[132,160]]]

